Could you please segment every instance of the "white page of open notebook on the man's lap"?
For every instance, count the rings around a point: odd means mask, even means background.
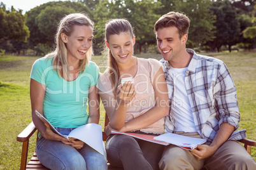
[[[167,143],[171,143],[173,145],[177,145],[180,147],[190,147],[190,148],[197,147],[197,145],[201,145],[206,142],[205,139],[191,138],[188,136],[182,136],[180,134],[174,134],[174,133],[161,134],[159,136],[156,136],[154,140],[165,141]]]

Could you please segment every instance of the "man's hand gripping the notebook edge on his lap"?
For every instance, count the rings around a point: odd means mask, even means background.
[[[217,150],[208,145],[197,145],[197,148],[190,150],[197,160],[202,160],[213,155]]]

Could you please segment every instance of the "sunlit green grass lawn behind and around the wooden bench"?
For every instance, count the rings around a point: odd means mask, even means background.
[[[207,53],[224,61],[231,72],[238,90],[241,122],[239,129],[247,130],[247,138],[256,140],[256,53]],[[160,55],[137,55],[143,58],[162,58]],[[39,57],[0,56],[0,169],[19,169],[22,143],[17,135],[31,122],[29,100],[29,75],[32,63]],[[101,72],[106,69],[106,58],[94,56]],[[101,105],[100,124],[104,124],[104,109]],[[32,136],[29,158],[35,148],[36,136]],[[252,148],[256,159],[256,148]]]

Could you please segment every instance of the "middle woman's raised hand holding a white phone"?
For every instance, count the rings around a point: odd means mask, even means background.
[[[132,82],[125,82],[117,95],[117,101],[122,105],[126,105],[132,101],[135,95],[136,90],[134,88],[134,84]]]

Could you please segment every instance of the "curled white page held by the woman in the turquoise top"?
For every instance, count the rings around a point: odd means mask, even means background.
[[[71,131],[68,136],[87,143],[87,145],[104,155],[103,134],[99,124],[85,124]]]

